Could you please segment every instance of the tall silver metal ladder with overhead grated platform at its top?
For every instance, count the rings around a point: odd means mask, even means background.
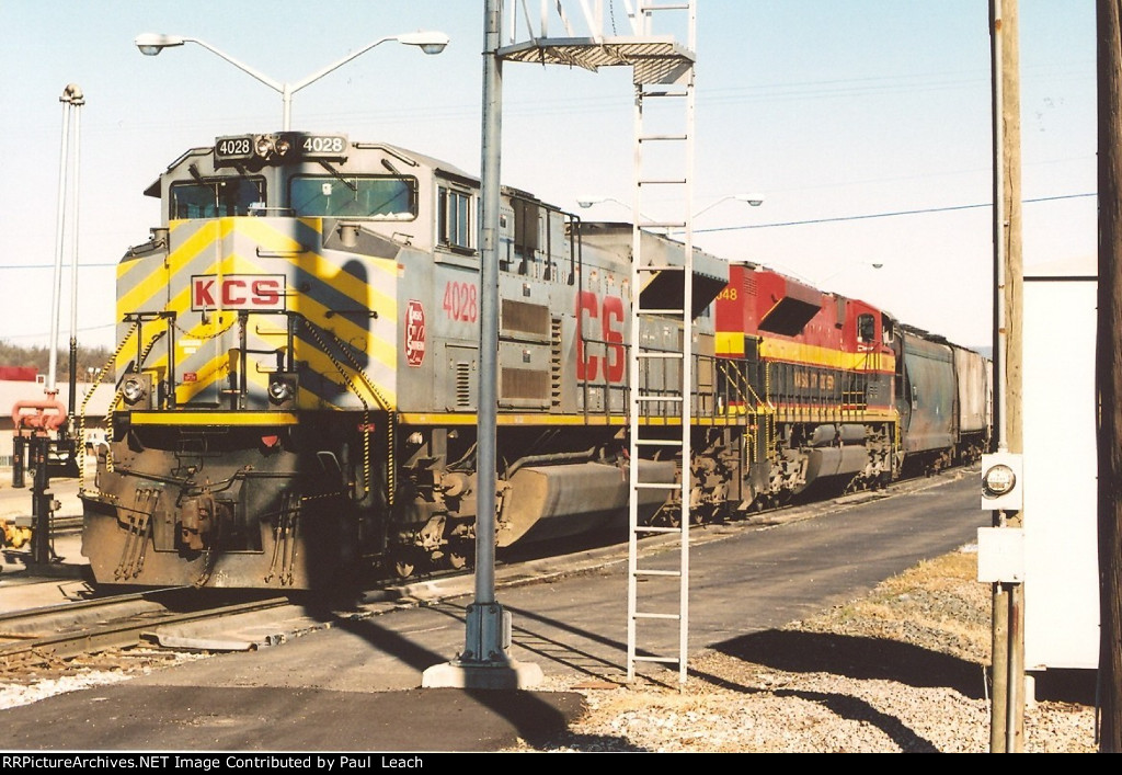
[[[693,64],[696,61],[697,17],[695,2],[653,3],[638,0],[633,4],[625,0],[626,13],[631,22],[631,36],[616,34],[614,11],[609,7],[610,19],[604,17],[603,2],[594,4],[569,3],[572,16],[565,12],[564,0],[542,3],[541,18],[531,19],[527,7],[513,3],[512,34],[521,33],[519,11],[526,15],[530,38],[516,42],[512,36],[509,45],[499,49],[506,62],[534,64],[561,64],[567,67],[579,65],[596,71],[605,66],[629,66],[635,89],[634,120],[634,204],[632,208],[633,261],[631,273],[632,319],[631,348],[628,350],[628,454],[629,454],[629,546],[627,585],[627,678],[634,680],[635,665],[641,662],[672,664],[678,667],[679,681],[687,675],[687,635],[689,631],[689,493],[690,493],[690,425],[692,386],[692,339],[690,323],[693,318],[692,304],[692,167],[693,167]],[[549,30],[549,19],[558,15],[564,36],[553,36]],[[656,18],[657,17],[657,18]],[[579,21],[591,30],[589,37],[577,33]],[[605,22],[610,20],[611,35],[604,34]],[[682,46],[675,35],[654,34],[654,22],[660,30],[673,30],[677,37],[684,36],[688,45]],[[649,124],[647,103],[669,103],[671,116],[677,116],[677,127],[672,131],[654,131],[644,128]],[[660,148],[665,156],[677,159],[673,174],[652,173],[652,147]],[[657,193],[655,193],[657,192]],[[657,204],[659,198],[666,195],[669,207],[679,208],[673,217],[657,220],[643,213],[647,203]],[[650,199],[649,199],[650,198]],[[683,245],[680,262],[645,258],[643,255],[644,230],[681,235]],[[657,279],[657,282],[654,282]],[[669,290],[668,290],[669,289]],[[644,290],[650,292],[644,295]],[[657,294],[657,295],[656,295]],[[654,334],[668,323],[680,326],[680,347],[656,348],[644,344],[644,335]],[[657,389],[646,376],[657,372],[663,381]],[[665,381],[672,376],[671,381]],[[680,432],[671,435],[668,429]],[[646,481],[641,476],[637,462],[643,458],[668,456],[681,461],[681,475],[677,482]],[[671,522],[675,527],[656,527],[640,523],[640,505],[652,496],[670,499]],[[665,511],[663,514],[665,516]],[[678,563],[675,567],[640,566],[637,540],[654,532],[674,534],[677,538]],[[664,553],[660,556],[670,556]],[[651,593],[651,585],[643,584],[644,604],[640,605],[640,581],[670,582],[674,590],[670,594]],[[668,602],[668,601],[673,602]],[[640,622],[669,622],[674,624],[671,646],[666,638],[651,640],[651,648],[640,654],[637,645]]]

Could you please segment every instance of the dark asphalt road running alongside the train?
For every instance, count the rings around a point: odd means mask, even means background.
[[[852,599],[973,541],[988,523],[976,475],[919,484],[928,489],[790,512],[781,525],[703,531],[691,550],[691,653]],[[590,562],[579,574],[503,585],[497,595],[513,614],[511,657],[570,685],[618,681],[626,666],[626,559],[618,553],[583,559]],[[543,560],[534,573],[558,568]],[[419,689],[425,668],[463,648],[470,592],[470,585],[448,587],[442,594],[451,596],[439,602],[383,605],[383,613],[366,618],[324,613],[330,628],[279,647],[0,711],[7,745],[469,751],[498,750],[515,737],[533,739],[568,723],[580,705],[572,692]]]

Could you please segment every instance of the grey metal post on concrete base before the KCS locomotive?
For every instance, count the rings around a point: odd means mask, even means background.
[[[463,653],[424,672],[422,686],[521,689],[542,680],[534,664],[511,659],[511,614],[495,600],[495,474],[498,384],[499,153],[503,71],[502,2],[487,0],[484,46],[482,163],[479,228],[479,427],[477,447],[476,589],[468,607]]]

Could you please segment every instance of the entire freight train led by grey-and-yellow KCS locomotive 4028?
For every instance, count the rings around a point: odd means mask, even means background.
[[[108,439],[80,482],[99,584],[328,587],[475,554],[478,179],[340,134],[219,137],[145,193],[118,266]],[[686,265],[643,233],[642,255]],[[880,486],[988,444],[988,362],[865,302],[695,250],[690,459],[627,459],[633,229],[504,186],[503,549],[626,520],[627,468],[730,519],[817,482]],[[645,371],[650,389],[664,373]],[[643,520],[680,519],[668,487]],[[678,508],[671,508],[675,507]]]

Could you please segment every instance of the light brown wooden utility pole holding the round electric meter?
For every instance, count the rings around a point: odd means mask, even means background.
[[[1017,0],[990,0],[994,148],[994,425],[997,450],[1024,452],[1021,408],[1021,98]],[[1023,512],[994,510],[993,527],[1018,528]],[[1024,744],[1024,589],[993,584],[991,753]]]

